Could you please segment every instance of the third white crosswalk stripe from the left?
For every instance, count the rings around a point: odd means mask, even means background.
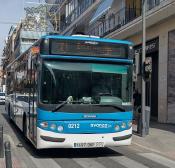
[[[115,162],[127,167],[127,168],[148,168],[147,166],[132,160],[126,156],[115,156],[115,157],[109,157],[110,159],[114,160]]]

